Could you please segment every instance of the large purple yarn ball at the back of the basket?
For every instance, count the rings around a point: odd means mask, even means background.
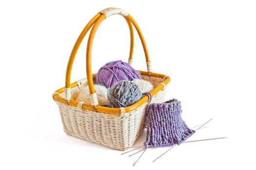
[[[112,87],[119,81],[141,79],[140,74],[130,65],[121,60],[112,61],[99,68],[96,84]]]

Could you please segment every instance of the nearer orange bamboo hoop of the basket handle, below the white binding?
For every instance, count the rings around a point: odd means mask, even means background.
[[[91,33],[88,38],[87,49],[86,49],[86,75],[87,75],[87,81],[88,81],[89,91],[90,91],[90,95],[91,95],[91,102],[92,102],[94,110],[96,110],[96,108],[97,108],[98,99],[97,99],[97,94],[94,89],[93,77],[92,77],[92,67],[91,67],[92,45],[93,45],[94,36],[96,34],[98,26],[105,18],[106,18],[105,15],[101,15],[100,17],[98,17],[98,19],[94,23]],[[144,49],[148,72],[150,74],[150,72],[152,71],[151,70],[151,62],[149,60],[148,50],[147,50],[147,46],[146,46],[144,37],[138,27],[138,24],[134,20],[134,18],[131,17],[129,14],[125,18],[127,18],[128,20],[130,20],[133,23],[134,27],[136,28],[136,30],[138,32],[140,41],[141,41],[143,49]]]

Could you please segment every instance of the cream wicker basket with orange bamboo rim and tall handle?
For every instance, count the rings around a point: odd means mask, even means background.
[[[133,26],[136,28],[141,40],[145,57],[147,71],[139,71],[142,79],[154,85],[150,92],[153,96],[152,102],[163,102],[166,85],[170,78],[163,74],[153,73],[149,60],[147,47],[136,21],[127,12],[118,8],[107,8],[100,11],[86,25],[71,52],[67,70],[65,87],[60,88],[53,94],[54,101],[59,106],[59,113],[65,133],[90,142],[105,145],[110,148],[125,150],[131,147],[143,130],[144,115],[147,107],[148,96],[143,96],[138,102],[128,107],[109,108],[98,105],[97,95],[94,89],[94,77],[91,71],[91,51],[94,35],[99,24],[107,17],[119,14],[123,16],[129,26],[131,35],[130,55],[128,64],[132,65],[134,34]],[[71,69],[79,45],[85,34],[92,27],[88,38],[86,49],[86,74],[87,79],[79,80],[70,84]],[[83,103],[72,100],[71,93],[76,94],[83,86],[88,85],[92,103]]]

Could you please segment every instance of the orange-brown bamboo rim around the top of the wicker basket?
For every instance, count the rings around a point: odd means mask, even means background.
[[[149,72],[147,72],[147,71],[140,71],[140,74],[141,75],[149,76]],[[158,73],[150,72],[150,76],[151,77],[164,78],[165,80],[162,82],[164,85],[167,85],[171,81],[169,76],[163,75],[163,74],[158,74]],[[164,88],[164,85],[160,84],[156,88],[154,88],[150,92],[151,95],[155,96],[161,89]],[[78,86],[77,82],[74,82],[74,83],[72,83],[70,85],[71,88],[74,88],[76,86]],[[59,90],[56,90],[55,94],[53,95],[53,100],[55,102],[61,102],[61,103],[66,104],[66,105],[77,107],[79,102],[74,101],[74,100],[70,100],[68,102],[64,98],[62,98],[61,96],[58,95],[58,94],[61,94],[63,92],[64,92],[64,87],[60,88]],[[137,109],[138,107],[140,107],[142,104],[144,104],[147,101],[148,101],[148,96],[145,95],[138,102],[136,102],[136,103],[134,103],[134,104],[132,104],[132,105],[130,105],[128,107],[124,107],[125,113],[134,111],[135,109]],[[93,106],[91,104],[88,104],[88,103],[83,103],[82,104],[82,109],[94,110]],[[104,107],[104,106],[100,106],[100,105],[97,106],[96,111],[97,112],[101,112],[101,113],[109,113],[109,114],[120,114],[121,113],[120,108]]]

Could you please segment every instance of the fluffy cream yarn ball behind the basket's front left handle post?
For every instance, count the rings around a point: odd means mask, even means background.
[[[94,85],[94,89],[97,94],[98,104],[99,105],[107,105],[107,93],[108,90],[103,85]],[[91,103],[90,99],[90,91],[89,86],[85,86],[81,91],[79,91],[76,101],[84,102],[84,103]]]

